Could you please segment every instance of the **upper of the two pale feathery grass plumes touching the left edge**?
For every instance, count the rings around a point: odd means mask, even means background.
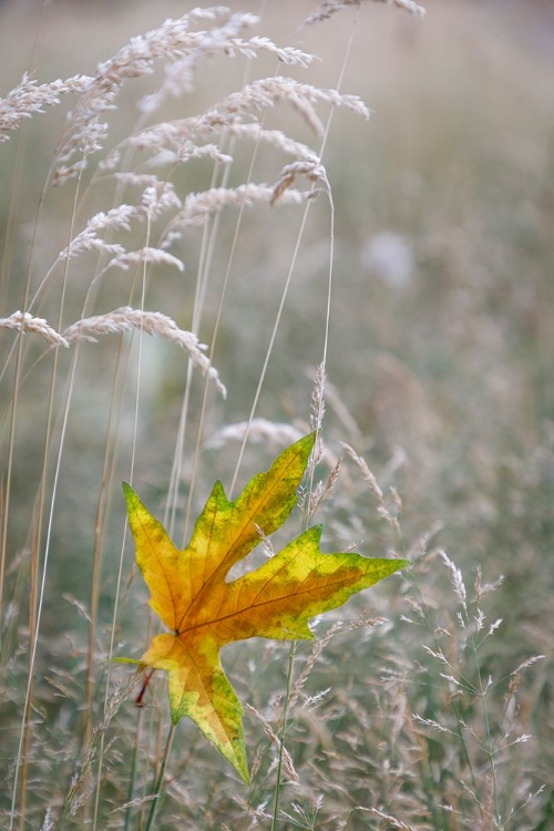
[[[25,72],[21,82],[0,99],[0,142],[8,141],[10,132],[19,127],[22,119],[43,113],[45,106],[60,104],[61,95],[84,92],[91,80],[88,75],[74,75],[65,81],[39,84]]]

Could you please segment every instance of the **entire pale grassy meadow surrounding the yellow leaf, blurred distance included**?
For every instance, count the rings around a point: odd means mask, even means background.
[[[540,4],[92,7],[0,9],[1,822],[546,831]],[[156,626],[120,483],[185,545],[310,425],[325,548],[414,565],[226,647],[244,786],[111,661]]]

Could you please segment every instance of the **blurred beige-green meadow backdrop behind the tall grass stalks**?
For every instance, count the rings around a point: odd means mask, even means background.
[[[259,13],[256,31],[280,45],[321,55],[306,80],[337,85],[356,9],[302,28],[315,2],[227,4]],[[340,440],[350,441],[384,485],[398,489],[408,544],[439,522],[440,543],[462,570],[474,574],[480,563],[486,579],[505,576],[492,601],[491,619],[504,622],[495,657],[509,673],[531,654],[547,656],[532,693],[535,727],[541,725],[534,765],[554,787],[554,3],[424,4],[422,20],[386,4],[362,3],[341,90],[360,95],[372,117],[366,124],[337,113],[324,157],[336,207],[328,376],[340,402],[329,399],[326,430],[335,452],[340,453]],[[25,70],[40,82],[92,74],[131,35],[193,6],[209,3],[3,0],[0,96]],[[205,64],[194,93],[167,116],[197,113],[239,89],[244,71],[242,59]],[[256,76],[274,71],[274,60],[256,63]],[[113,141],[134,123],[136,98],[155,88],[158,78],[141,81],[140,89],[133,82],[125,88],[113,114]],[[13,138],[0,145],[0,238],[10,214],[18,244],[2,285],[0,316],[22,304],[37,201],[63,117],[64,109],[58,107],[25,124],[16,204],[10,194],[18,145]],[[317,150],[297,114],[281,111],[275,117]],[[232,182],[244,181],[248,164],[246,153],[238,156]],[[263,157],[255,179],[271,182],[278,171],[278,161]],[[188,176],[184,191],[198,191],[207,186],[209,170],[199,165]],[[47,268],[64,244],[66,227],[59,220],[71,199],[69,189],[55,198],[39,239]],[[100,187],[91,195],[90,215],[105,207],[102,199]],[[222,277],[234,222],[230,217],[222,225],[214,269]],[[296,209],[261,208],[240,232],[214,358],[229,396],[226,402],[214,400],[205,439],[248,416],[298,222]],[[329,229],[328,204],[321,198],[311,212],[257,413],[299,427],[322,355]],[[185,278],[170,274],[151,287],[150,308],[172,315],[183,328],[189,325],[193,297],[186,277],[194,275],[198,245],[199,235],[192,235],[178,252]],[[68,297],[68,324],[79,316],[86,285],[84,279]],[[125,290],[116,284],[105,291],[106,308],[124,302]],[[208,298],[201,331],[208,342],[217,301],[217,293]],[[48,307],[42,311],[49,317]],[[10,343],[3,336],[2,353]],[[101,475],[95,438],[105,429],[110,389],[103,379],[111,349],[102,342],[82,355],[85,369],[69,427],[74,450],[60,482],[60,502],[68,511],[54,529],[57,591],[47,625],[55,635],[65,626],[59,609],[68,608],[59,596],[79,597],[89,568],[95,503],[88,494]],[[147,347],[145,361],[137,476],[154,509],[156,500],[162,504],[174,453],[183,359],[156,342]],[[25,544],[34,497],[29,482],[42,464],[43,433],[37,424],[42,424],[48,383],[37,376],[22,391],[25,417],[18,427],[10,529],[14,551]],[[0,391],[2,412],[7,394]],[[255,449],[254,468],[261,470],[273,451]],[[205,450],[206,488],[216,475],[228,481],[237,452]],[[121,478],[125,470],[122,463]],[[362,533],[369,551],[381,553],[388,543],[367,495],[352,486],[348,497],[357,504],[363,531],[330,516],[329,533],[335,540]],[[83,520],[83,505],[89,520]],[[79,563],[80,571],[68,568],[71,563]],[[107,583],[103,591],[109,606]]]

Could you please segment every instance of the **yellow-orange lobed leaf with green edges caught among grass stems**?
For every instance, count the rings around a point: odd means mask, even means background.
[[[168,673],[174,724],[189,716],[248,781],[243,707],[219,659],[226,644],[250,637],[314,638],[310,618],[409,565],[355,553],[324,554],[314,526],[257,570],[227,582],[229,570],[283,525],[297,504],[315,434],[287,448],[233,502],[217,481],[179,551],[163,525],[123,483],[136,562],[150,604],[170,633],[156,635],[137,661]]]

